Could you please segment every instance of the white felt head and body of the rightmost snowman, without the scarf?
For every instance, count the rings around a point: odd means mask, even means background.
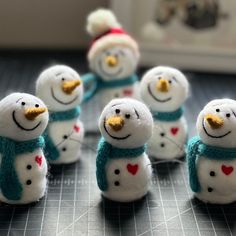
[[[235,114],[236,101],[234,100],[216,99],[209,102],[197,118],[197,133],[201,141],[209,146],[235,149]],[[214,119],[218,123],[214,122]],[[205,156],[196,159],[201,190],[195,193],[195,196],[204,202],[227,204],[236,201],[236,156],[235,159],[227,160],[225,157],[224,160],[222,155],[221,159]]]

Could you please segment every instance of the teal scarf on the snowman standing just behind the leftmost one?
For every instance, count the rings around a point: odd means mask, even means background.
[[[57,121],[72,120],[74,118],[79,117],[79,115],[80,115],[79,106],[68,111],[53,112],[53,113],[50,113],[49,115],[50,116],[49,123],[57,122]],[[52,141],[49,135],[48,128],[44,132],[44,138],[46,142],[46,146],[45,146],[46,158],[49,161],[57,160],[60,156],[60,152],[58,148],[56,147],[56,145],[54,144],[54,142]]]

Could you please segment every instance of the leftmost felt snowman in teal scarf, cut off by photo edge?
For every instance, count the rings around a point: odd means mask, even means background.
[[[35,96],[13,93],[0,101],[0,110],[0,201],[38,201],[47,186],[41,136],[48,123],[47,108]]]

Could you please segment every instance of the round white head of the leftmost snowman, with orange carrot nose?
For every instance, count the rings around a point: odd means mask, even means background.
[[[46,105],[26,93],[12,93],[0,101],[0,136],[16,141],[32,140],[48,124]]]

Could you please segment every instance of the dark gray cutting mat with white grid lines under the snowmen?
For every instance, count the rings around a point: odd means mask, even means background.
[[[76,53],[4,53],[0,56],[1,97],[14,90],[33,92],[34,78],[51,58],[85,71]],[[236,97],[236,77],[188,75],[192,95],[186,116],[192,136],[196,116],[208,100]],[[95,103],[84,108],[87,127],[96,123],[92,120],[95,110]],[[118,204],[102,199],[95,179],[98,139],[98,134],[87,134],[78,163],[51,168],[43,200],[30,206],[0,205],[0,235],[236,235],[235,204],[213,206],[193,199],[185,164],[154,165],[150,193],[138,202]]]

